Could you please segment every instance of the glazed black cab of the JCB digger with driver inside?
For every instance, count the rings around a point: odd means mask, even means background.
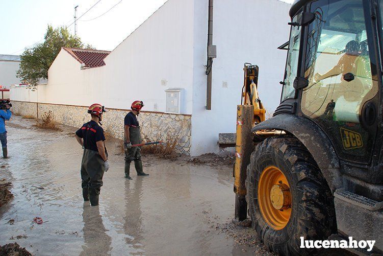
[[[292,106],[325,132],[339,158],[361,165],[376,163],[380,151],[381,11],[375,1],[297,1],[275,112]]]

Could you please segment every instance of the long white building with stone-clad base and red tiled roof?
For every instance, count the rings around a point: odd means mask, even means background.
[[[88,118],[85,106],[99,102],[111,109],[106,130],[119,138],[123,115],[131,102],[142,100],[148,137],[171,132],[179,136],[183,153],[218,152],[218,134],[236,129],[245,62],[260,66],[267,110],[279,103],[286,52],[277,47],[288,40],[290,6],[278,0],[214,1],[211,110],[206,108],[209,0],[167,1],[112,52],[62,49],[49,68],[48,84],[27,97],[25,90],[12,88],[11,99],[20,112],[70,109],[56,118],[72,125]]]

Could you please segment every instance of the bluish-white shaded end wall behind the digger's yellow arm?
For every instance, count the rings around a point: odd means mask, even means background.
[[[218,152],[218,134],[236,131],[236,106],[241,102],[243,64],[260,66],[259,91],[265,107],[279,104],[291,5],[277,0],[214,1],[212,110],[206,110],[208,0],[195,1],[194,77],[191,155]]]

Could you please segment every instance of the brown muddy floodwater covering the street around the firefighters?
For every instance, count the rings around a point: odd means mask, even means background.
[[[91,207],[82,199],[75,129],[33,124],[20,117],[7,122],[10,158],[0,159],[0,179],[12,182],[14,199],[0,208],[0,245],[17,242],[36,255],[265,253],[256,240],[238,242],[252,230],[232,230],[231,167],[144,157],[150,176],[132,169],[127,180],[118,143],[110,142],[100,205]]]

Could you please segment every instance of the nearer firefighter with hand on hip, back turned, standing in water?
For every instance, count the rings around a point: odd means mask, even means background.
[[[85,123],[74,135],[84,149],[81,161],[81,186],[84,201],[90,200],[92,206],[98,205],[104,172],[109,169],[104,130],[98,125],[103,120],[103,112],[106,112],[104,106],[91,105],[88,109],[91,121]]]

